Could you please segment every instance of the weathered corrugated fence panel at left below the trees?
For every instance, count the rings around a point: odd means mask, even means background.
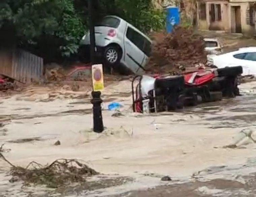
[[[1,50],[0,74],[23,83],[39,81],[43,77],[43,59],[23,50]]]

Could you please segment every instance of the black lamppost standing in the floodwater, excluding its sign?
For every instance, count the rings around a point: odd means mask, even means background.
[[[94,7],[93,0],[88,0],[89,8],[89,29],[90,29],[90,55],[91,55],[91,64],[95,64],[95,30],[94,30]],[[93,74],[93,73],[92,73]],[[93,76],[92,76],[93,77]],[[102,121],[102,112],[101,112],[101,103],[100,91],[92,91],[92,100],[93,104],[93,131],[96,133],[101,133],[104,130],[103,121]]]

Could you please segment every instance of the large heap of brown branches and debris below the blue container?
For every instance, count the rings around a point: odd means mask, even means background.
[[[207,61],[203,37],[195,34],[192,28],[178,26],[172,33],[158,32],[153,40],[147,65],[150,72],[180,74],[188,67]]]

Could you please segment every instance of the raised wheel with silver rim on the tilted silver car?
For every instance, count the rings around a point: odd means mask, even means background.
[[[113,55],[112,57],[111,54]],[[104,50],[104,62],[106,65],[113,67],[120,64],[122,51],[118,46],[107,46]]]

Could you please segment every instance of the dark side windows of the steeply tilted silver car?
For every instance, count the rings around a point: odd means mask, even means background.
[[[130,27],[127,28],[126,37],[148,57],[150,56],[151,42],[148,39]]]

